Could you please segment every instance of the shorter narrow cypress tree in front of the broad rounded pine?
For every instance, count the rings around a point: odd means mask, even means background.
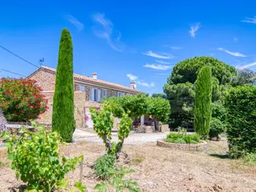
[[[202,139],[208,137],[211,123],[211,67],[203,66],[195,82],[195,132]]]

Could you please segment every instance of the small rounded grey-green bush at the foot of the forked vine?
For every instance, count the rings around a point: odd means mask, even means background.
[[[109,170],[115,167],[115,161],[113,154],[105,154],[97,158],[94,163],[94,169],[96,170],[94,174],[97,174],[102,180],[108,179],[110,177]]]

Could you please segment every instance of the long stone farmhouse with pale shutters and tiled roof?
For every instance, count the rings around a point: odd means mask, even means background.
[[[46,125],[51,124],[53,113],[53,94],[56,80],[56,69],[48,66],[41,66],[35,72],[26,77],[36,80],[38,85],[42,88],[42,93],[48,99],[48,111],[40,115],[36,120],[37,123]],[[86,77],[80,74],[74,74],[74,88],[75,88],[75,120],[77,127],[93,128],[91,120],[90,107],[100,107],[99,101],[110,96],[135,95],[142,93],[135,90],[135,82],[130,82],[130,87],[118,85],[112,82],[106,82],[97,79],[97,73],[92,74],[92,77]],[[142,124],[145,123],[144,115],[136,120]],[[115,120],[114,128],[117,128],[118,120]]]

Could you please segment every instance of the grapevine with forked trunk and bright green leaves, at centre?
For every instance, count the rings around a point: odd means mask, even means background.
[[[94,122],[94,131],[103,140],[107,152],[116,155],[116,158],[118,158],[124,144],[124,139],[129,136],[129,128],[132,124],[131,118],[129,118],[128,114],[124,112],[119,104],[109,101],[105,101],[100,110],[91,108],[90,111],[91,119]],[[118,143],[111,143],[111,130],[113,128],[114,117],[121,117],[117,132]]]

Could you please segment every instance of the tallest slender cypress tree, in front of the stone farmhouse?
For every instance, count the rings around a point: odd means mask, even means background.
[[[65,142],[72,142],[75,131],[73,47],[67,29],[62,30],[59,43],[59,59],[53,96],[53,131],[57,131]]]

